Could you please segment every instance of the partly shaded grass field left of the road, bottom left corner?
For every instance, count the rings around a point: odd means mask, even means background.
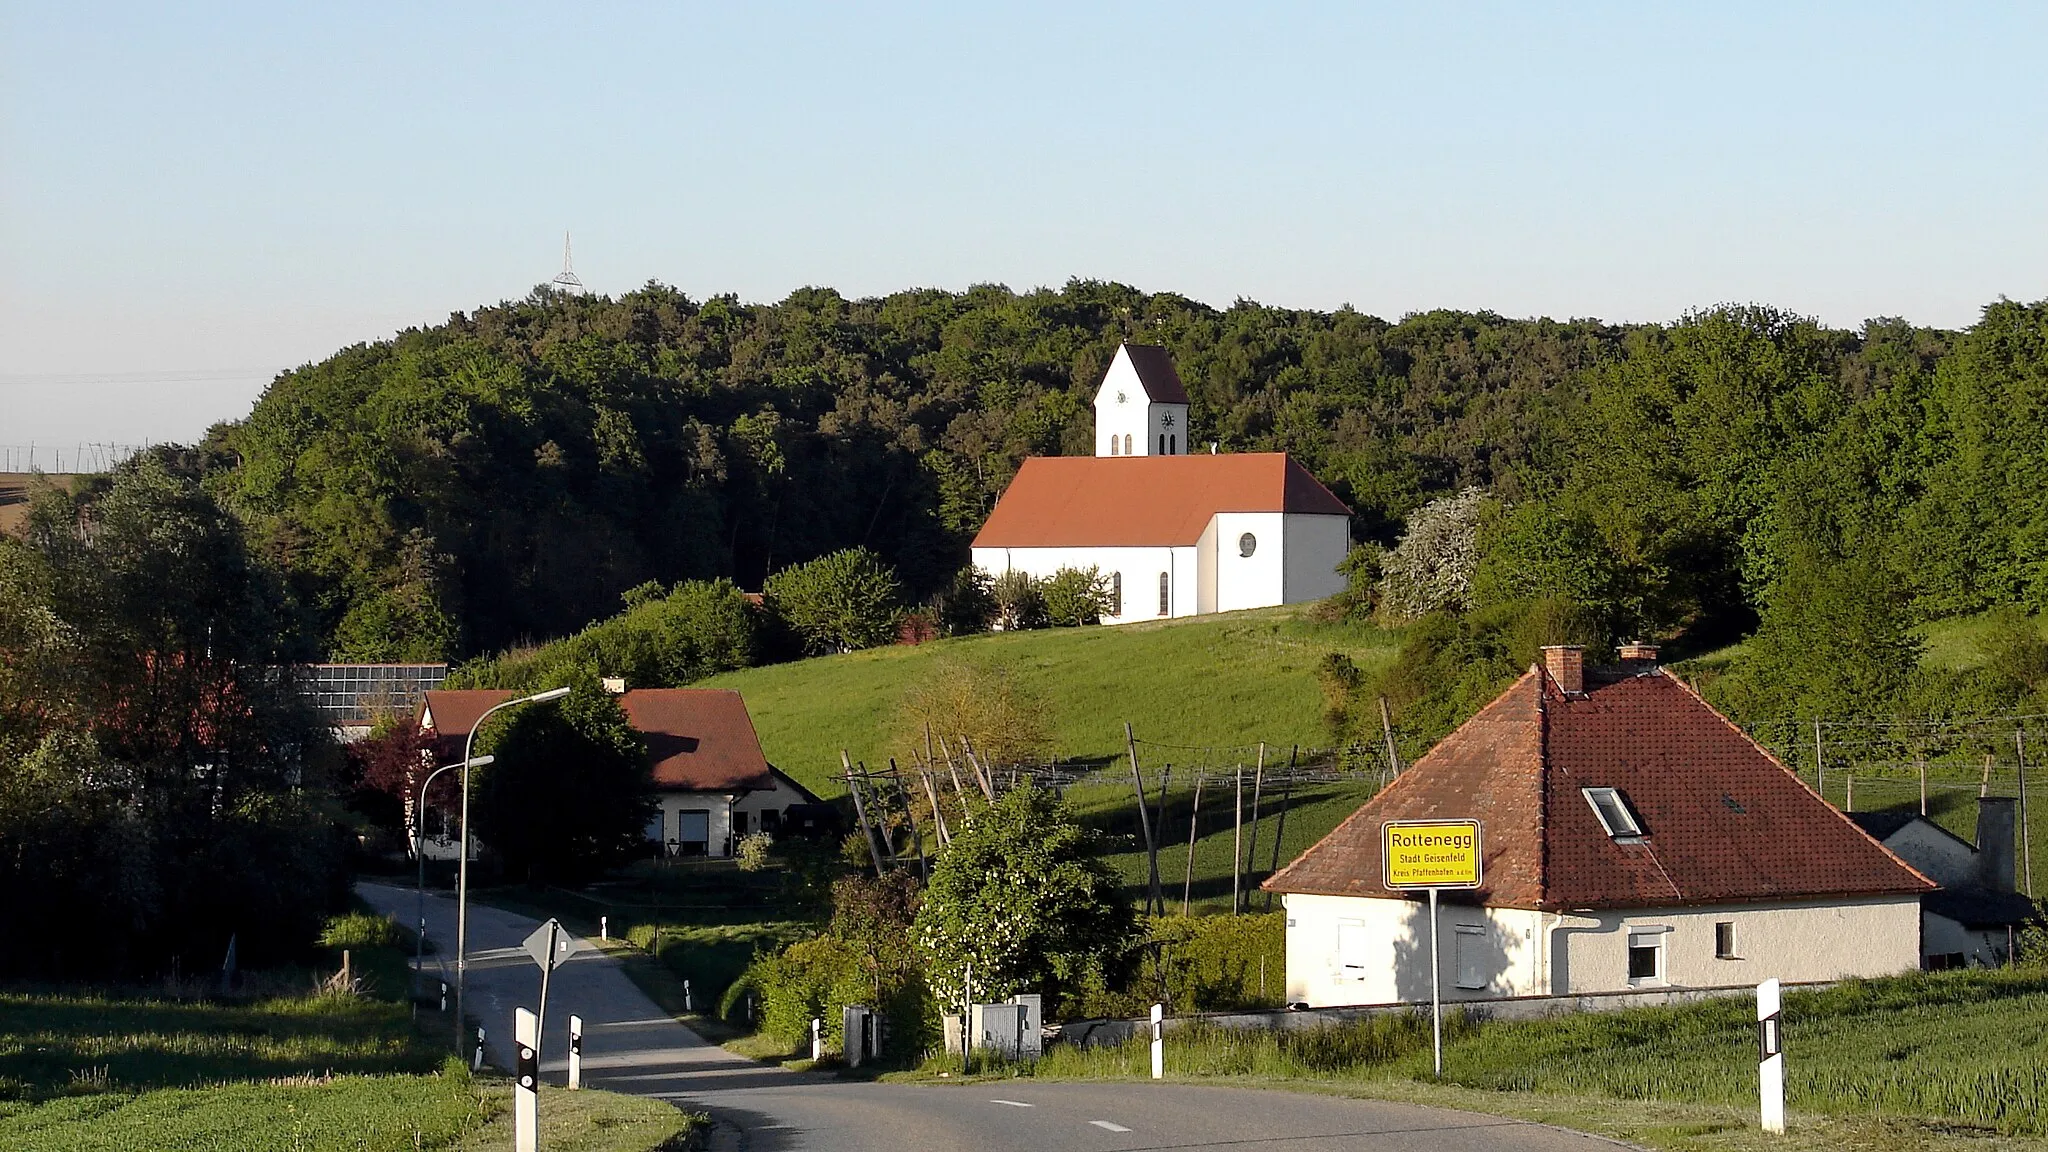
[[[354,945],[360,994],[217,1000],[182,990],[0,990],[0,1148],[510,1148],[510,1091],[471,1080],[416,1029],[403,1002],[399,933],[367,920],[344,918],[330,935]],[[266,986],[309,988],[311,980],[311,972],[250,976]],[[659,1101],[563,1097],[549,1148],[647,1152],[688,1127]]]

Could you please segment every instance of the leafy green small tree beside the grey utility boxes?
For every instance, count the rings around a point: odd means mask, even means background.
[[[1135,918],[1096,834],[1049,789],[1024,783],[975,814],[938,857],[915,947],[942,1006],[969,992],[1047,996],[1049,1011],[1102,984]]]

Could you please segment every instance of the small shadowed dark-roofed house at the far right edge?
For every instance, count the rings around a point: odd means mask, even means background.
[[[2019,933],[2038,918],[2015,892],[2015,799],[1976,801],[1976,842],[1917,812],[1851,812],[1898,859],[1942,886],[1921,900],[1921,968],[1997,968],[2013,957]]]

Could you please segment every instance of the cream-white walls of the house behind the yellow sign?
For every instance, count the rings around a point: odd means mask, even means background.
[[[1311,1006],[1430,998],[1425,900],[1286,898],[1286,998]],[[1735,924],[1735,957],[1714,955],[1714,924]],[[1458,929],[1477,929],[1460,933]],[[1888,976],[1919,968],[1919,898],[1647,908],[1552,914],[1446,902],[1438,927],[1446,1000],[1563,996],[1632,988],[1722,988]],[[1460,939],[1462,937],[1462,939]],[[1630,939],[1661,947],[1659,976],[1630,982]],[[1352,955],[1343,955],[1352,943]],[[1466,951],[1460,955],[1460,947]],[[1960,949],[1952,949],[1960,951]],[[1346,959],[1362,965],[1346,965]],[[1481,988],[1460,986],[1477,976]]]

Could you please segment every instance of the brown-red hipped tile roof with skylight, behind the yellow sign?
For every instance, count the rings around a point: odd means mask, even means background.
[[[1530,668],[1329,836],[1274,892],[1399,896],[1380,886],[1380,824],[1485,822],[1485,881],[1505,908],[1653,908],[1933,890],[1663,670],[1587,672],[1565,695]],[[1579,789],[1614,787],[1638,842],[1602,828]]]

